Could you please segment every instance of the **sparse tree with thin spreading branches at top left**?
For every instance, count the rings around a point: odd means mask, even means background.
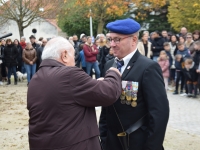
[[[22,37],[23,30],[33,22],[55,16],[61,3],[61,0],[0,0],[1,23],[15,21]]]

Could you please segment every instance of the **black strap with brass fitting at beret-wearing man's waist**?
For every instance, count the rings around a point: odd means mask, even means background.
[[[121,146],[123,148],[123,150],[129,150],[129,135],[131,133],[133,133],[134,131],[136,131],[137,129],[139,129],[145,122],[146,118],[147,118],[147,114],[145,114],[142,118],[140,118],[138,121],[136,121],[133,125],[131,125],[126,131],[124,131],[124,128],[122,126],[122,123],[119,119],[119,116],[117,114],[117,111],[115,109],[115,106],[113,105],[113,108],[115,110],[115,113],[117,115],[117,118],[119,120],[119,123],[122,127],[122,131],[121,133],[117,134],[117,137],[121,143]]]

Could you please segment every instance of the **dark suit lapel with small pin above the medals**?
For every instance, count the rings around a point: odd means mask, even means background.
[[[133,68],[134,63],[137,61],[138,57],[140,56],[140,52],[137,50],[131,60],[129,61],[128,65],[126,66],[123,74],[122,74],[122,80],[125,79],[129,71]]]

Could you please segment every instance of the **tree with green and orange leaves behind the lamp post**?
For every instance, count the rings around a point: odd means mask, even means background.
[[[74,27],[81,20],[83,21],[82,26],[84,26],[84,22],[89,25],[89,16],[92,15],[95,23],[94,29],[97,30],[96,33],[102,33],[108,20],[121,17],[127,12],[127,4],[124,0],[65,0],[64,15],[59,15],[59,25],[63,28],[64,26],[66,27],[67,23],[68,25],[73,24],[72,26]],[[92,11],[91,14],[89,12],[90,9]]]

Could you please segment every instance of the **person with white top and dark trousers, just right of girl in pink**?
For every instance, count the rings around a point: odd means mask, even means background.
[[[176,75],[176,68],[175,68],[175,56],[178,50],[177,47],[178,43],[178,37],[175,34],[172,34],[170,37],[170,53],[172,57],[172,64],[170,68],[170,80],[171,80],[171,85],[175,86],[175,75]]]

